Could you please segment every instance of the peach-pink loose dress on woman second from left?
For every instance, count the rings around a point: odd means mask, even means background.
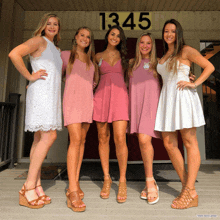
[[[61,52],[63,71],[66,70],[70,51]],[[64,126],[73,123],[92,123],[94,65],[86,69],[86,63],[75,59],[72,71],[66,74],[63,95]]]

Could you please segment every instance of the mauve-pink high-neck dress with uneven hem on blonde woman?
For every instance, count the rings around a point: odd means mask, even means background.
[[[154,130],[157,105],[160,96],[160,84],[148,69],[149,59],[142,59],[133,71],[129,83],[130,133],[147,134],[161,138]],[[145,69],[144,69],[144,66]]]

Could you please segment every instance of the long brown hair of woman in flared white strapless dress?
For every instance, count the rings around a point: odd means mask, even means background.
[[[164,54],[166,54],[166,52],[168,51],[168,44],[164,40],[164,30],[167,24],[174,24],[176,26],[176,40],[174,43],[174,51],[173,54],[171,54],[170,62],[168,62],[167,68],[169,71],[172,70],[174,73],[177,73],[177,60],[182,54],[182,49],[184,45],[186,45],[183,38],[183,28],[181,24],[175,19],[170,19],[165,22],[162,31]]]

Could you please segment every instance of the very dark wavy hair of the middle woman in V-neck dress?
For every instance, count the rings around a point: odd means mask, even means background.
[[[128,62],[126,60],[126,55],[127,55],[127,47],[126,47],[126,37],[124,34],[123,29],[118,26],[118,25],[114,25],[111,28],[109,28],[109,30],[107,31],[106,35],[105,35],[105,46],[104,46],[104,50],[106,50],[107,46],[108,46],[108,35],[111,32],[111,30],[113,29],[118,29],[119,30],[119,35],[120,35],[120,43],[116,46],[116,49],[119,51],[120,55],[121,55],[121,65],[122,65],[122,69],[124,72],[126,72],[127,67],[128,67]]]

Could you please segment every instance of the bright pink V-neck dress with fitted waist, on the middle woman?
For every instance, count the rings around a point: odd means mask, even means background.
[[[99,66],[102,74],[94,95],[93,120],[108,123],[128,121],[128,91],[121,59],[114,66],[100,60]]]

